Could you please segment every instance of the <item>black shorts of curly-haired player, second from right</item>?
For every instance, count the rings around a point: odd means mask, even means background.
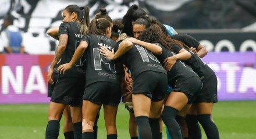
[[[184,81],[177,80],[175,85],[172,87],[172,91],[183,92],[189,99],[187,104],[192,104],[201,88],[202,83],[200,78],[198,76],[193,76]]]

